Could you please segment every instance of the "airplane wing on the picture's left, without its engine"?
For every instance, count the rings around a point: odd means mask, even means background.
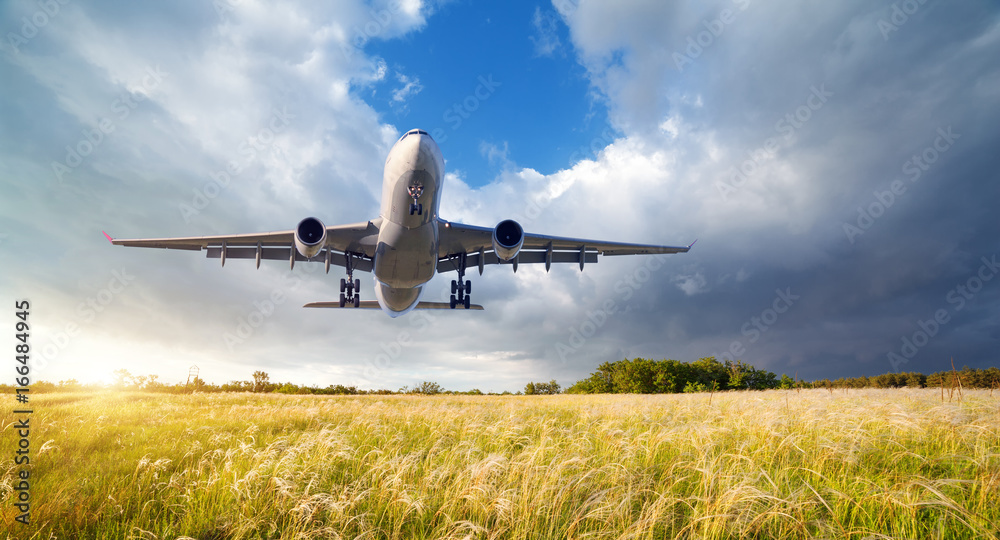
[[[206,257],[222,259],[223,265],[226,264],[226,259],[256,259],[258,268],[261,260],[286,260],[290,266],[294,266],[295,261],[314,261],[325,262],[329,272],[331,264],[346,266],[347,255],[350,254],[352,269],[371,272],[381,224],[382,220],[379,218],[327,227],[327,247],[311,259],[303,257],[295,249],[293,230],[182,238],[119,239],[111,238],[107,233],[104,236],[116,246],[205,251]]]

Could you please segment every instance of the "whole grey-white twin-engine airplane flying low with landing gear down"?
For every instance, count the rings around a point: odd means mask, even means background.
[[[182,249],[206,252],[210,259],[287,260],[322,262],[343,267],[340,299],[310,302],[303,307],[381,309],[390,317],[414,309],[482,310],[472,304],[472,282],[465,273],[486,265],[576,263],[582,271],[601,255],[686,253],[694,245],[671,247],[603,242],[525,233],[519,223],[505,219],[493,228],[445,221],[438,216],[444,185],[444,157],[426,131],[407,131],[389,151],[382,180],[379,217],[361,223],[327,227],[315,217],[303,219],[290,231],[187,238],[116,239],[128,247]],[[361,280],[354,272],[372,272],[375,301],[361,300]],[[435,273],[457,272],[449,302],[420,300],[424,285]]]

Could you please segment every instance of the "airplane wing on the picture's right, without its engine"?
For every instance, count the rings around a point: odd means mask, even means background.
[[[577,263],[582,270],[585,263],[596,263],[598,255],[686,253],[694,245],[694,242],[687,246],[629,244],[525,232],[517,257],[503,261],[493,252],[493,229],[490,227],[443,222],[439,231],[438,272],[458,270],[458,259],[463,255],[466,268],[478,266],[480,274],[487,264],[545,263],[548,270],[554,263]]]

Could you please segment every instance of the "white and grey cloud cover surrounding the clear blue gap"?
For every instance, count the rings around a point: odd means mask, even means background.
[[[621,351],[710,354],[739,338],[744,322],[786,287],[801,302],[749,349],[748,360],[877,360],[879,347],[894,345],[924,307],[933,313],[962,277],[937,259],[928,262],[927,253],[971,264],[978,258],[969,253],[995,245],[989,202],[997,188],[968,178],[989,179],[984,171],[995,170],[984,165],[992,154],[981,150],[997,140],[989,126],[997,125],[998,96],[987,83],[1000,70],[983,52],[996,40],[996,25],[968,23],[977,18],[962,9],[978,8],[939,9],[928,13],[958,22],[915,19],[886,44],[874,22],[888,6],[864,2],[753,3],[683,72],[671,54],[734,3],[580,3],[560,12],[572,52],[621,135],[594,159],[550,175],[513,163],[506,141],[484,143],[485,159],[503,162],[502,172],[477,189],[460,172],[448,174],[442,217],[490,225],[513,216],[532,232],[607,240],[700,239],[688,254],[662,257],[655,271],[643,270],[648,259],[639,257],[606,257],[582,273],[572,265],[551,274],[523,265],[516,276],[490,268],[472,276],[474,300],[486,312],[432,314],[433,324],[415,332],[422,319],[414,314],[388,320],[301,309],[338,293],[339,275],[310,273],[308,265],[257,271],[233,261],[222,269],[196,254],[111,248],[97,234],[224,234],[290,228],[306,215],[328,224],[374,217],[382,163],[398,132],[360,97],[358,89],[368,92],[388,75],[387,60],[368,55],[364,44],[419,31],[436,5],[243,2],[223,16],[164,5],[158,16],[121,20],[130,15],[71,4],[58,24],[0,65],[5,91],[18,100],[0,101],[10,126],[0,131],[0,185],[16,195],[0,200],[7,235],[0,248],[19,254],[0,260],[11,276],[4,290],[30,292],[47,306],[39,311],[40,326],[49,329],[37,335],[40,349],[69,324],[85,333],[59,348],[42,377],[86,380],[101,358],[112,370],[160,373],[167,381],[196,362],[203,378],[217,382],[265,369],[275,380],[325,385],[376,366],[364,375],[367,386],[426,379],[448,388],[518,389],[528,374],[571,383]],[[554,54],[562,44],[545,33],[554,29],[547,24],[536,10],[538,33],[529,39]],[[169,76],[144,91],[127,118],[113,116],[116,100],[156,66]],[[397,73],[395,80],[392,103],[405,106],[422,89],[416,77]],[[834,96],[785,138],[776,123],[824,83]],[[294,116],[287,127],[266,132],[274,110],[285,108]],[[65,186],[52,189],[50,162],[64,159],[65,146],[104,116],[115,118],[114,134]],[[952,124],[965,134],[956,150],[865,233],[867,248],[850,248],[840,225],[859,201],[870,202],[939,125]],[[753,158],[754,172],[723,197],[718,184],[732,183],[732,171],[771,138],[774,151]],[[185,222],[179,204],[193,204],[233,161],[241,172]],[[969,231],[992,236],[977,240]],[[134,285],[82,320],[81,302],[122,267],[136,276]],[[438,277],[425,298],[447,298],[451,278]],[[363,295],[370,283],[363,278]],[[877,309],[869,290],[880,295]],[[230,351],[222,336],[273,291],[285,300]],[[995,305],[990,294],[983,292],[983,305]],[[608,301],[615,312],[564,364],[555,344]],[[869,311],[890,312],[891,335],[879,334],[886,326],[874,324]],[[952,328],[979,336],[960,324]],[[402,331],[416,337],[401,345]],[[386,364],[380,355],[391,358]],[[470,362],[487,364],[470,371]]]

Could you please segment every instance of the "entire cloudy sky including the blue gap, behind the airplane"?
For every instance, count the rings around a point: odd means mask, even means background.
[[[38,378],[502,391],[638,356],[805,379],[997,365],[994,3],[317,4],[0,5],[0,332],[30,301]],[[445,219],[698,243],[488,268],[486,311],[390,319],[301,308],[339,293],[321,265],[101,234],[376,217],[414,127],[445,155]]]

